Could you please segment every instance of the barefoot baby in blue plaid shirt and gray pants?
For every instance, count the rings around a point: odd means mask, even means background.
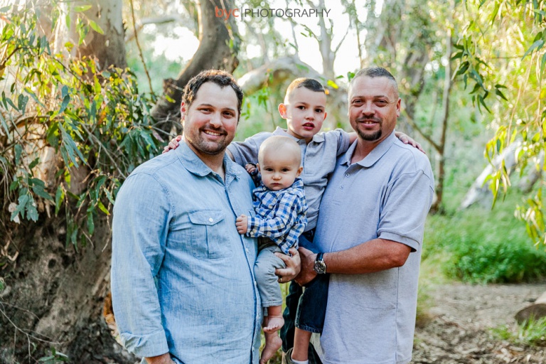
[[[307,225],[304,183],[298,178],[303,171],[299,145],[289,137],[267,138],[259,147],[257,168],[262,183],[253,191],[256,215],[240,215],[236,225],[240,234],[259,237],[254,272],[262,306],[267,309],[262,324],[265,346],[277,350],[281,340],[277,331],[284,319],[275,269],[284,268],[284,262],[274,252],[290,255],[289,248],[297,249]]]

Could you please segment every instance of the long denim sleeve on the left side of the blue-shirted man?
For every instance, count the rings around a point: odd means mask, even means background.
[[[168,352],[156,275],[164,259],[169,215],[168,196],[152,176],[127,178],[114,205],[112,304],[124,346],[136,355]]]

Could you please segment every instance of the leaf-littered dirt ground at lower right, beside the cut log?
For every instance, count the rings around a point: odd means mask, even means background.
[[[415,332],[412,363],[546,364],[546,347],[493,338],[490,329],[515,328],[514,315],[546,291],[543,284],[428,287],[432,307]]]

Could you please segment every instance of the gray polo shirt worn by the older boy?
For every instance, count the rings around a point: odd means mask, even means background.
[[[245,139],[235,141],[228,146],[237,164],[245,166],[247,163],[257,163],[259,146],[272,135],[282,135],[294,139],[301,148],[301,165],[304,172],[301,179],[304,181],[305,198],[307,201],[306,231],[315,228],[319,216],[321,198],[328,183],[328,175],[336,167],[336,159],[345,153],[349,147],[349,134],[342,129],[315,134],[306,144],[304,139],[292,137],[286,130],[277,127],[274,132],[262,132]]]

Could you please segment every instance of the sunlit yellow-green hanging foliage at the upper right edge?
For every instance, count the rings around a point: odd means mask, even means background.
[[[464,25],[453,59],[473,102],[491,115],[495,137],[486,146],[492,161],[510,144],[521,142],[516,159],[521,174],[542,170],[537,158],[546,149],[546,2],[544,0],[470,0],[461,3]],[[539,161],[539,162],[537,162]],[[510,186],[505,164],[489,176],[493,203]],[[544,182],[518,207],[536,242],[546,243],[542,202]]]

